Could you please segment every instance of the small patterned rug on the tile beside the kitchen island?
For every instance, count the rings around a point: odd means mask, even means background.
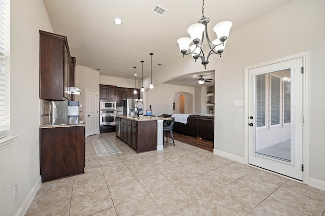
[[[105,137],[92,139],[93,147],[97,156],[111,155],[121,153],[111,140]]]

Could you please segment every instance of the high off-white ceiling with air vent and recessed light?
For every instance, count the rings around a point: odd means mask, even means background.
[[[207,0],[205,16],[210,18],[209,37],[216,38],[212,28],[220,21],[230,20],[234,30],[268,13],[290,0]],[[164,67],[179,58],[177,39],[189,37],[187,27],[202,17],[199,0],[43,0],[53,30],[66,35],[72,56],[77,64],[100,69],[100,75],[134,79],[144,61],[144,77],[150,75],[155,65]],[[161,6],[170,12],[167,16],[153,13]],[[113,20],[120,18],[121,25]],[[231,33],[229,42],[231,43]],[[225,50],[226,52],[226,50]],[[189,56],[186,56],[190,58]],[[200,63],[200,62],[198,62]],[[202,66],[203,67],[203,66]],[[169,84],[196,85],[199,75],[214,78],[214,73],[204,71],[169,81]],[[212,83],[213,84],[213,83]]]

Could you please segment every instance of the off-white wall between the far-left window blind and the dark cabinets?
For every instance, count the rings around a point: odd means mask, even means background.
[[[53,32],[42,0],[11,0],[11,133],[0,150],[0,214],[24,213],[40,185],[39,29]],[[17,197],[13,198],[14,184]]]

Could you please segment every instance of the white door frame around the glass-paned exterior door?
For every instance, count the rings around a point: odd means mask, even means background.
[[[309,178],[309,144],[308,144],[308,51],[298,53],[295,55],[286,56],[283,58],[274,59],[271,61],[251,65],[244,68],[244,101],[245,101],[245,139],[244,139],[244,157],[245,164],[248,164],[248,147],[249,147],[249,132],[248,132],[248,124],[249,124],[249,70],[256,67],[263,67],[270,64],[275,64],[282,61],[288,61],[296,58],[302,58],[303,67],[304,67],[304,79],[303,79],[303,116],[304,116],[304,124],[303,124],[303,164],[304,164],[304,172],[303,172],[303,183],[308,185]]]

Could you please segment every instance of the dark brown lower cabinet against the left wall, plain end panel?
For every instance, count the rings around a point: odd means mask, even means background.
[[[40,129],[40,169],[42,183],[83,174],[85,167],[85,127]]]

